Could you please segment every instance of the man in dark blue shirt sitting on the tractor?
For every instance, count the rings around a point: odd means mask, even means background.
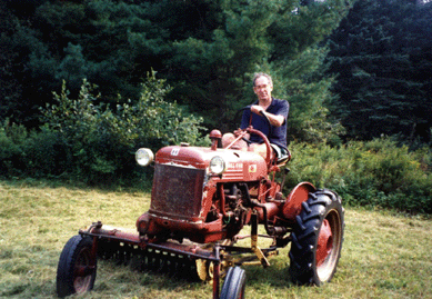
[[[258,97],[258,101],[250,109],[244,110],[240,129],[235,130],[233,134],[225,133],[222,137],[222,147],[228,147],[242,130],[252,126],[269,138],[273,149],[271,158],[274,158],[274,156],[281,158],[287,153],[287,119],[290,104],[288,101],[278,100],[271,96],[273,82],[267,73],[255,73],[253,77],[253,91]],[[261,113],[269,119],[270,124]],[[262,157],[267,157],[267,147],[259,136],[248,134],[245,138],[249,139],[250,144],[240,139],[235,146],[242,150],[254,151]]]

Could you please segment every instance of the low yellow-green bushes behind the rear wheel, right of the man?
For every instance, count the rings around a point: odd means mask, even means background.
[[[432,212],[429,148],[409,151],[381,138],[340,148],[293,143],[291,150],[291,186],[307,180],[335,190],[349,205]]]

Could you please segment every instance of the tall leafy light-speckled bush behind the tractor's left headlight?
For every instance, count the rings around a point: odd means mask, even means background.
[[[48,128],[63,140],[73,178],[90,182],[133,181],[139,169],[134,152],[140,147],[157,150],[181,141],[197,143],[201,118],[187,114],[177,103],[164,101],[170,87],[150,76],[140,99],[114,109],[98,104],[99,94],[84,80],[78,99],[70,99],[63,84],[57,103],[43,110]]]

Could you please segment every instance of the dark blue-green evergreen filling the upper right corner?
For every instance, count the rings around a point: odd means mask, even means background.
[[[432,4],[359,1],[330,37],[332,114],[349,138],[430,139]]]

